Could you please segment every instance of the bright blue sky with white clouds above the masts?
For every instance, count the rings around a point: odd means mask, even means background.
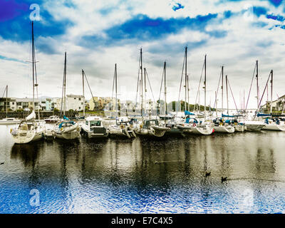
[[[207,104],[214,103],[221,66],[240,106],[259,60],[261,93],[274,70],[274,99],[285,94],[285,1],[226,0],[0,0],[0,90],[31,97],[31,4],[40,96],[61,96],[64,52],[67,93],[81,94],[81,69],[93,95],[112,95],[114,65],[122,100],[135,100],[140,48],[155,99],[167,62],[167,100],[177,100],[185,46],[190,103],[195,103],[207,53]],[[34,15],[34,14],[33,14]],[[254,85],[255,85],[254,81]],[[150,90],[148,90],[150,92]],[[0,91],[1,92],[1,91]],[[1,92],[3,93],[3,92]],[[256,107],[256,87],[249,106]],[[151,93],[147,94],[152,97]],[[86,97],[90,93],[86,87]],[[231,98],[231,96],[229,96]],[[266,99],[266,94],[264,95]],[[204,100],[203,93],[200,96]],[[220,98],[219,98],[220,99]],[[225,104],[224,104],[225,105]],[[231,108],[234,108],[232,99]]]

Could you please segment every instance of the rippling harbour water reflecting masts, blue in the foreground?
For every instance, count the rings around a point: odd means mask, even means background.
[[[12,127],[0,125],[0,213],[285,212],[282,132],[14,145]]]

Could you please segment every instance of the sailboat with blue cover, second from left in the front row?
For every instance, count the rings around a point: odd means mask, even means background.
[[[64,102],[63,102],[64,100]],[[63,120],[56,123],[53,128],[53,132],[56,138],[64,140],[74,140],[80,137],[81,128],[78,123],[66,118],[66,53],[64,58],[64,71],[63,71],[63,91],[61,98],[61,116]]]

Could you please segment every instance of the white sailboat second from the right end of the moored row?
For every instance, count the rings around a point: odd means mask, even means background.
[[[254,73],[256,72],[256,79],[257,79],[257,111],[259,110],[259,71],[258,71],[258,61],[256,61],[255,66],[254,66]],[[254,80],[254,73],[252,75],[252,83]],[[250,85],[249,88],[249,95],[250,95],[250,91],[252,90],[252,83]],[[249,95],[247,97],[247,105],[249,102]],[[245,111],[247,110],[247,105],[245,107]],[[252,120],[249,119],[249,117],[247,117],[247,120],[241,120],[241,123],[244,123],[244,125],[247,127],[248,131],[260,131],[262,128],[264,128],[265,123],[260,121],[260,120],[256,120],[255,116]]]

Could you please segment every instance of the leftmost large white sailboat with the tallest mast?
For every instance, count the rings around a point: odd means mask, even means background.
[[[28,143],[35,140],[41,140],[43,138],[43,132],[44,132],[44,125],[33,120],[36,118],[35,88],[38,86],[36,78],[36,56],[35,56],[35,46],[33,38],[33,21],[31,22],[31,33],[32,33],[31,44],[32,44],[32,64],[33,64],[33,111],[31,112],[30,115],[26,117],[25,120],[21,121],[18,128],[11,129],[11,135],[13,137],[14,142],[19,144]]]

